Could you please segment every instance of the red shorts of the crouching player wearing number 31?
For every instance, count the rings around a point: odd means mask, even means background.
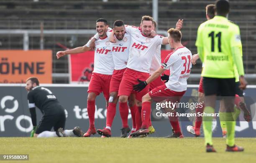
[[[174,90],[170,90],[164,84],[151,90],[149,92],[149,95],[156,102],[166,100],[166,99],[169,99],[169,100],[171,99],[170,101],[172,100],[179,101],[185,92],[186,90],[182,92],[176,92]],[[172,98],[172,97],[175,97],[175,98]]]

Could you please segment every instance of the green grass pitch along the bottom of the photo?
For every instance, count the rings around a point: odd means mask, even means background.
[[[213,143],[218,153],[205,153],[203,138],[0,138],[0,154],[29,154],[29,161],[14,161],[15,163],[256,161],[256,138],[236,138],[236,144],[245,148],[241,153],[225,152],[225,138],[214,138]]]

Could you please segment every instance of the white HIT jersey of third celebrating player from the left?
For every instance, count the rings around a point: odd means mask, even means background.
[[[149,73],[156,48],[163,43],[163,36],[147,38],[141,33],[140,27],[125,25],[125,31],[131,35],[131,45],[127,68]]]

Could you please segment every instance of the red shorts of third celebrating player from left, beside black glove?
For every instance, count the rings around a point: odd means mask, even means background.
[[[120,95],[127,95],[129,96],[133,91],[133,85],[138,84],[138,79],[145,81],[149,77],[149,73],[142,73],[136,70],[132,70],[130,68],[126,68],[125,72],[123,73],[123,78],[120,83],[120,87],[118,90],[118,96]],[[136,99],[141,101],[143,95],[146,95],[149,91],[149,85],[146,86],[141,92],[136,92]]]

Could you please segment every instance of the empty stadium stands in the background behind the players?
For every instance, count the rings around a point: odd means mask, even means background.
[[[159,30],[174,27],[177,19],[184,19],[182,29],[183,41],[187,48],[196,53],[195,40],[197,28],[206,20],[205,6],[214,3],[214,0],[159,0]],[[256,3],[254,0],[230,0],[231,12],[229,19],[241,28],[243,43],[243,60],[246,73],[256,73]],[[0,1],[0,30],[3,29],[95,29],[97,18],[106,18],[110,26],[114,20],[124,20],[126,24],[139,25],[142,15],[152,15],[151,0],[1,0]],[[84,45],[90,35],[73,35],[76,41],[73,47]],[[61,43],[72,48],[71,35],[45,35],[44,48],[56,51],[62,50],[56,43]],[[22,49],[23,36],[1,34],[0,49]],[[40,38],[38,35],[30,36],[30,49],[39,49]],[[67,58],[56,60],[53,55],[53,73],[67,73]],[[201,64],[193,68],[192,73],[200,73]],[[54,83],[67,83],[68,80],[54,79]],[[198,81],[189,80],[197,84]]]

